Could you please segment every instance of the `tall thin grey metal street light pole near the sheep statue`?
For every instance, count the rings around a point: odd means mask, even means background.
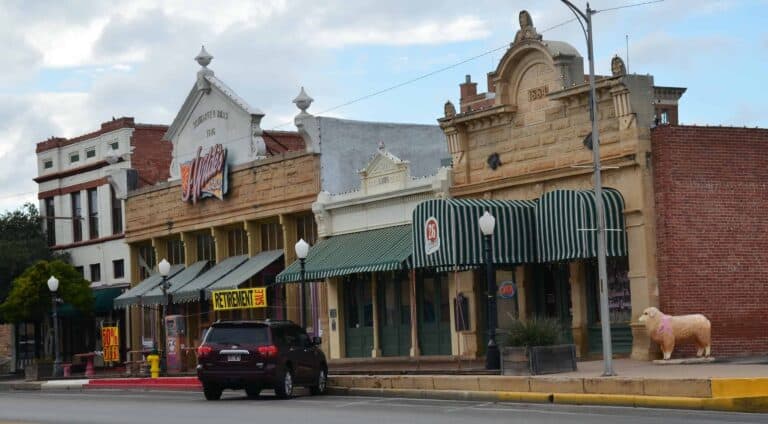
[[[600,283],[600,324],[603,336],[603,375],[616,375],[613,372],[613,352],[611,351],[611,318],[608,315],[608,271],[605,260],[605,210],[603,210],[603,183],[600,175],[600,137],[597,125],[597,96],[595,94],[595,54],[592,46],[592,15],[597,13],[587,3],[586,13],[579,10],[568,0],[562,0],[576,19],[587,40],[589,57],[589,94],[590,118],[592,120],[592,160],[595,163],[595,209],[597,209],[597,272]],[[584,24],[587,25],[584,28]]]

